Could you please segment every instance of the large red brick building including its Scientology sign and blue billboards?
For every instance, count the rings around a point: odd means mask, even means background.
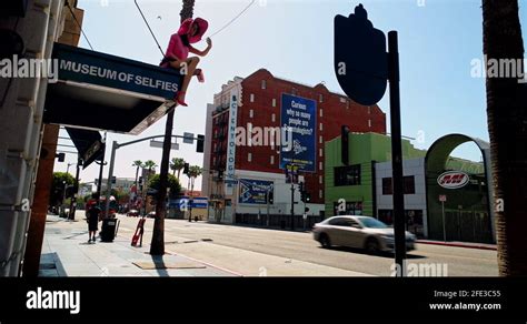
[[[324,84],[309,87],[258,70],[223,84],[208,105],[203,195],[210,198],[209,219],[235,223],[237,214],[290,215],[287,164],[300,165],[311,200],[311,215],[325,212],[325,143],[342,124],[355,132],[386,133],[386,115],[377,105],[362,107]],[[208,142],[208,141],[206,141]],[[286,148],[287,146],[287,148]],[[266,195],[271,194],[268,204]],[[305,206],[294,204],[295,214]]]

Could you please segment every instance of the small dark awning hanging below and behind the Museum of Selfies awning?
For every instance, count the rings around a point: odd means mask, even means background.
[[[102,143],[102,136],[98,131],[66,128],[71,141],[82,159],[82,169],[90,166],[95,161],[101,161],[106,144]]]

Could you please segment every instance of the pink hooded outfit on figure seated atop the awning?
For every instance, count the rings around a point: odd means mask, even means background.
[[[199,28],[198,34],[193,37],[189,37],[189,43],[197,43],[201,40],[203,37],[205,32],[209,28],[209,23],[207,20],[201,19],[201,18],[196,18],[196,19],[186,19],[182,23],[181,27],[179,28],[178,32],[172,34],[170,37],[170,42],[168,44],[168,49],[166,52],[166,58],[167,59],[176,59],[176,60],[187,60],[189,57],[189,50],[190,48],[186,47],[181,40],[181,36],[188,34],[190,31],[190,28],[192,27],[192,23],[197,23]],[[169,64],[163,63],[161,67],[167,68]]]

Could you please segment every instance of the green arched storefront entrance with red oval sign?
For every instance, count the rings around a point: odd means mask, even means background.
[[[483,162],[450,156],[456,148],[468,142],[479,148]],[[490,144],[480,139],[465,134],[449,134],[430,146],[425,158],[429,239],[475,243],[496,242],[490,168]],[[449,171],[468,175],[467,184],[457,189],[441,186],[439,178]]]

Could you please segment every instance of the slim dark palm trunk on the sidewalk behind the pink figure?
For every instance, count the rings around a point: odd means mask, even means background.
[[[181,22],[193,16],[195,0],[183,0],[183,7],[180,12]],[[162,145],[162,159],[160,171],[160,188],[158,192],[158,201],[165,201],[167,198],[168,185],[168,169],[170,160],[170,150],[172,148],[172,129],[173,129],[173,113],[176,107],[172,107],[167,114],[167,123],[165,125],[165,140]],[[150,244],[150,254],[165,254],[165,214],[167,210],[165,204],[157,204],[156,219],[153,222],[152,241]]]

